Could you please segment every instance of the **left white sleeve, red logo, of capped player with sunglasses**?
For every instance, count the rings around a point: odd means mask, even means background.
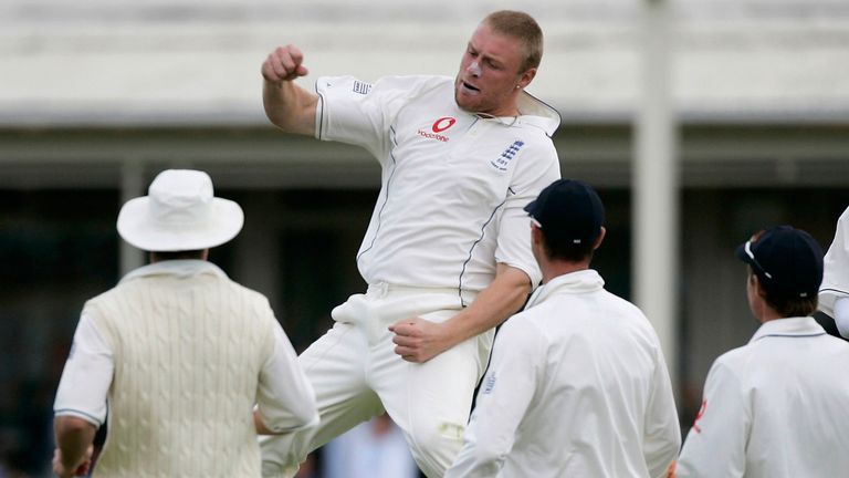
[[[708,373],[702,407],[678,460],[678,476],[744,476],[751,424],[740,377],[720,357]]]

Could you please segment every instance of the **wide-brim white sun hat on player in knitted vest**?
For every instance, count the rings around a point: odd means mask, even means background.
[[[159,173],[148,195],[128,200],[118,214],[118,233],[151,252],[201,250],[234,238],[244,224],[242,208],[213,196],[208,174],[191,169]]]

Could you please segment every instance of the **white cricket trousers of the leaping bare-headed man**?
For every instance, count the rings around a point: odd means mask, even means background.
[[[464,293],[469,304],[473,293]],[[462,309],[458,291],[369,285],[335,308],[336,322],[298,361],[315,389],[321,423],[261,438],[263,477],[292,477],[310,451],[386,411],[403,430],[419,468],[441,477],[462,447],[474,387],[494,331],[423,364],[395,353],[389,325],[412,316],[442,322]]]

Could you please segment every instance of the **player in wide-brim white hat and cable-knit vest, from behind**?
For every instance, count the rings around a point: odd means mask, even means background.
[[[54,405],[59,477],[259,477],[256,433],[317,423],[315,395],[262,294],[206,259],[242,228],[197,170],[166,170],[118,215],[151,263],[85,303]],[[254,405],[256,411],[254,412]]]

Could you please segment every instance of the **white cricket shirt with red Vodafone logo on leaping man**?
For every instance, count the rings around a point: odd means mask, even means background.
[[[316,91],[316,136],[382,167],[357,253],[367,283],[481,291],[496,262],[539,282],[522,208],[560,177],[556,111],[524,93],[518,117],[468,113],[447,76],[319,77]]]

